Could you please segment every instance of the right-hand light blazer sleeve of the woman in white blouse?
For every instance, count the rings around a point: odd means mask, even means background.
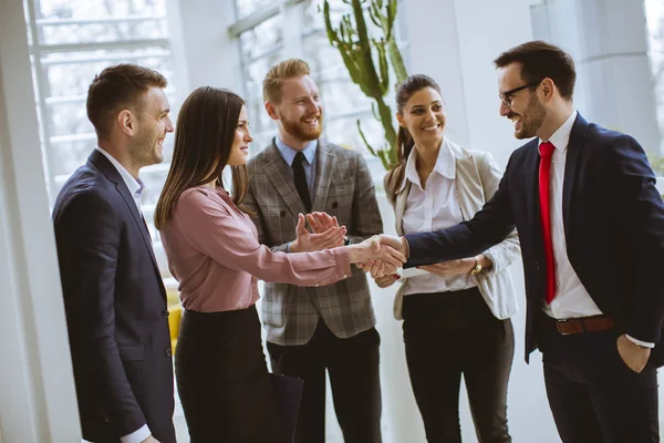
[[[485,198],[491,198],[498,190],[502,172],[500,166],[490,153],[480,153],[477,156],[477,166]],[[517,230],[512,230],[505,240],[484,251],[484,255],[491,260],[494,266],[487,272],[487,276],[501,272],[507,269],[516,259],[519,258],[521,248]]]

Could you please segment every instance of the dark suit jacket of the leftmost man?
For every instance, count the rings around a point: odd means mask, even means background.
[[[175,442],[166,292],[141,213],[101,152],[64,184],[53,223],[83,437],[118,442],[147,423]]]

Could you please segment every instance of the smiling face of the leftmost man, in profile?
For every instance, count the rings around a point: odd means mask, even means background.
[[[128,151],[133,165],[143,167],[164,161],[164,141],[174,130],[169,112],[164,90],[151,87],[143,96],[137,132]]]

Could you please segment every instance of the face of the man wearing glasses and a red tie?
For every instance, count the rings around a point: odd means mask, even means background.
[[[519,63],[511,63],[498,70],[499,93],[519,87],[523,83]],[[510,99],[511,106],[500,103],[500,115],[513,122],[515,137],[535,137],[547,119],[547,107],[540,102],[537,87],[521,90]]]

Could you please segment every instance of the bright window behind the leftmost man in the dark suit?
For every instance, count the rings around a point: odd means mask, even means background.
[[[51,203],[96,144],[85,112],[87,86],[94,75],[108,65],[128,62],[155,69],[166,79],[173,79],[165,1],[24,1]],[[169,85],[166,94],[173,107],[173,86]],[[176,111],[172,110],[172,114],[176,115]],[[145,183],[143,213],[165,277],[168,269],[153,225],[153,213],[166,179],[173,142],[173,135],[166,137],[164,163],[141,172]]]

